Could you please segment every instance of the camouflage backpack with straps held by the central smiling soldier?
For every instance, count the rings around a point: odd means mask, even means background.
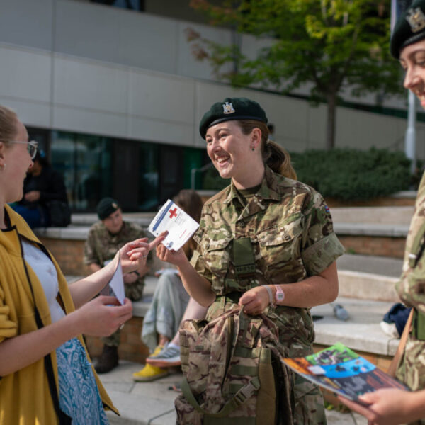
[[[278,327],[239,307],[180,327],[182,395],[177,424],[292,425],[290,371]],[[276,397],[276,394],[278,397]]]

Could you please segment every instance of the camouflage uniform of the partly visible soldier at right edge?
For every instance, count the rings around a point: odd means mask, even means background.
[[[414,215],[404,251],[403,271],[396,283],[399,297],[408,307],[425,314],[425,174],[422,176],[416,198]],[[411,390],[425,388],[425,341],[409,334],[396,378]],[[425,418],[414,424],[425,425]]]

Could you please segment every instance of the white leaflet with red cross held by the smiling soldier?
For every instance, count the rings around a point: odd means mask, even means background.
[[[166,249],[179,251],[198,227],[198,223],[190,215],[172,200],[167,200],[147,229],[155,237],[168,230],[169,233],[162,243]]]

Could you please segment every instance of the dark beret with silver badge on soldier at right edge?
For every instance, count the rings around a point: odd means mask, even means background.
[[[399,17],[392,31],[391,55],[399,59],[408,45],[425,38],[425,0],[414,1]]]

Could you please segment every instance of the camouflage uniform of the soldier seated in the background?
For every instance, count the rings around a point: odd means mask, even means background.
[[[96,222],[90,227],[89,236],[84,244],[84,264],[96,263],[98,266],[105,266],[105,261],[113,259],[118,249],[127,242],[146,237],[142,227],[135,223],[123,221],[123,227],[117,234],[111,234],[106,229],[103,222]],[[152,253],[147,258],[148,263],[152,262]],[[125,285],[125,296],[132,301],[140,300],[145,288],[145,277],[140,276],[134,283]],[[111,336],[102,338],[104,344],[108,346],[118,346],[120,344],[120,331],[116,331]]]

